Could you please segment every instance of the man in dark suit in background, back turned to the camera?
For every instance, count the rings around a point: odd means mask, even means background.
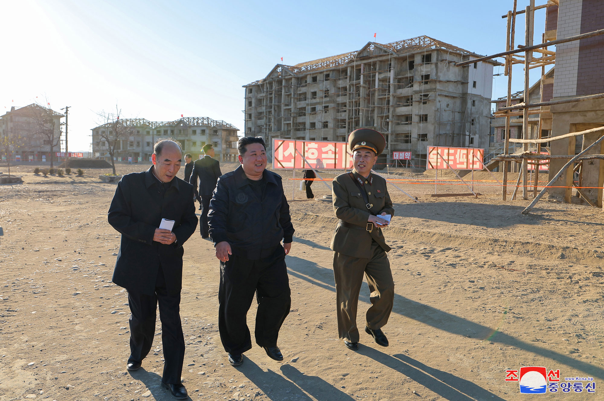
[[[197,187],[197,178],[199,177],[199,192],[201,197],[201,216],[199,216],[199,232],[202,238],[207,238],[208,234],[208,210],[210,210],[210,199],[216,188],[216,181],[222,175],[220,172],[220,163],[213,159],[214,147],[212,144],[205,144],[202,148],[205,156],[196,160],[193,164],[193,173],[191,173],[190,183]]]

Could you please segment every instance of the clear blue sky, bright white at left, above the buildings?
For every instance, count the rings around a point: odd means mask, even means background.
[[[380,43],[427,35],[498,53],[510,7],[511,0],[0,0],[0,111],[46,99],[55,110],[71,106],[72,151],[88,150],[96,113],[116,104],[124,118],[210,117],[243,132],[242,85],[265,77],[280,57],[293,65],[358,50],[374,33]],[[535,19],[539,43],[544,10]],[[524,43],[523,16],[517,22],[516,43]],[[522,89],[516,68],[513,91]],[[506,85],[507,77],[495,77],[493,98]]]

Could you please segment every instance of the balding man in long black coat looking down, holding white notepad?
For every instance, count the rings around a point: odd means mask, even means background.
[[[193,187],[176,178],[181,147],[169,140],[155,144],[153,165],[146,172],[125,175],[117,185],[108,220],[121,233],[113,282],[128,291],[130,358],[137,370],[149,353],[159,303],[164,373],[161,385],[176,399],[186,399],[181,384],[185,342],[180,317],[182,244],[197,226]],[[173,220],[172,229],[159,226]]]

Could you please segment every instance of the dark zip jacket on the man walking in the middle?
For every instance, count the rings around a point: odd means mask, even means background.
[[[250,254],[277,246],[281,240],[292,242],[294,226],[281,176],[269,170],[263,176],[262,199],[254,194],[242,166],[218,179],[208,213],[214,245],[226,241],[233,254],[238,250]]]

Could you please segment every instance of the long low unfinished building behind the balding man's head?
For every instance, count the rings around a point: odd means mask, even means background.
[[[149,121],[144,118],[122,118],[119,120],[118,142],[114,158],[133,161],[149,160],[153,144],[159,138],[174,138],[179,141],[184,153],[197,159],[201,148],[208,143],[214,145],[216,158],[220,161],[237,160],[237,129],[233,124],[216,121],[208,117],[183,117],[175,121]],[[114,140],[113,123],[92,128],[92,152],[97,159],[111,160],[108,140]]]

